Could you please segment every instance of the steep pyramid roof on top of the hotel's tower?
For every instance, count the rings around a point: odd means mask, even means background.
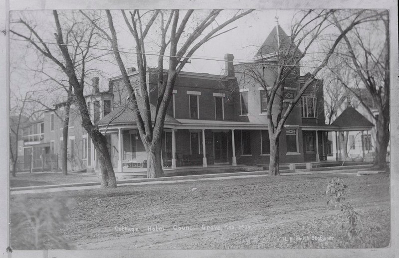
[[[277,34],[278,28],[278,34]],[[278,47],[280,40],[280,48]],[[266,40],[263,42],[262,46],[256,52],[255,58],[270,56],[270,54],[274,55],[279,51],[279,49],[286,49],[291,44],[291,37],[285,33],[285,31],[281,28],[280,25],[275,26],[270,34],[267,36]],[[299,49],[296,49],[298,52]]]

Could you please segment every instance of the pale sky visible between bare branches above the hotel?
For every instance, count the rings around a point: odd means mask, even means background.
[[[186,34],[190,33],[193,28],[196,26],[196,22],[200,20],[200,18],[208,13],[209,10],[196,10],[193,14],[193,17],[197,17],[197,19],[193,19],[189,26],[185,29]],[[193,55],[193,57],[198,58],[209,58],[209,59],[218,59],[220,61],[215,60],[199,60],[192,58],[185,65],[183,71],[189,72],[197,72],[197,73],[209,73],[221,75],[224,73],[224,62],[223,56],[226,53],[233,54],[235,60],[246,60],[251,61],[258,50],[258,48],[262,45],[263,41],[266,39],[268,34],[271,32],[274,26],[278,23],[283,28],[283,30],[289,35],[291,30],[291,24],[293,22],[293,18],[295,14],[300,11],[298,9],[257,9],[248,15],[234,21],[233,23],[227,25],[220,32],[227,31],[215,38],[212,38],[204,45],[202,45]],[[85,11],[89,13],[89,11]],[[141,10],[141,13],[144,13],[145,10]],[[182,18],[185,14],[186,10],[182,10],[180,13],[180,17]],[[216,21],[218,24],[226,20],[228,17],[231,17],[235,14],[237,10],[228,9],[223,10],[221,15],[217,17]],[[118,35],[118,44],[119,49],[127,52],[134,52],[135,44],[133,36],[130,34],[128,27],[120,13],[120,10],[112,10],[113,22],[115,29]],[[89,13],[90,14],[90,13]],[[103,11],[104,14],[104,11]],[[69,10],[59,11],[59,15],[62,17],[70,18],[72,12]],[[76,13],[73,15],[78,15],[82,20],[85,20],[80,13]],[[129,16],[129,13],[127,12]],[[30,11],[12,11],[10,13],[10,27],[20,33],[28,34],[26,30],[23,30],[20,25],[17,23],[13,23],[22,17],[25,20],[28,20],[32,24],[34,24],[35,29],[39,32],[40,36],[44,41],[54,42],[53,33],[56,31],[54,25],[54,17],[52,15],[51,10],[30,10]],[[277,17],[277,19],[276,19]],[[298,17],[300,17],[298,15]],[[106,19],[104,20],[106,21]],[[104,23],[105,27],[108,26],[107,22]],[[65,24],[61,24],[65,27]],[[215,24],[212,24],[215,25]],[[159,37],[159,32],[157,31],[158,26],[153,26],[150,30],[146,42],[146,51],[147,53],[158,53],[159,48],[157,47],[157,37]],[[10,90],[12,93],[21,94],[28,90],[35,90],[36,97],[43,97],[48,103],[54,101],[62,101],[63,96],[65,96],[65,91],[56,90],[56,91],[48,91],[48,85],[56,85],[55,82],[44,81],[46,79],[45,76],[42,76],[38,73],[32,72],[31,69],[40,69],[40,58],[38,58],[37,51],[34,51],[32,47],[26,48],[28,45],[26,41],[19,41],[19,37],[15,35],[10,35]],[[328,39],[325,41],[329,43]],[[101,48],[110,49],[109,43],[104,40],[100,43]],[[56,45],[50,45],[50,49],[54,51],[58,51]],[[312,52],[317,52],[317,47],[312,49]],[[310,52],[310,51],[308,51]],[[106,90],[108,87],[107,79],[119,76],[120,70],[116,65],[115,59],[113,55],[109,51],[102,51],[102,53],[108,53],[107,55],[101,58],[101,61],[92,62],[88,64],[87,69],[96,69],[100,71],[98,74],[93,74],[88,76],[88,82],[90,82],[90,78],[93,76],[100,76],[100,89]],[[166,52],[166,54],[168,51]],[[40,55],[39,55],[40,56]],[[125,63],[125,67],[137,67],[136,63],[136,55],[135,54],[123,54],[123,59]],[[167,65],[168,58],[165,58],[164,65]],[[310,59],[309,59],[310,60]],[[305,62],[303,61],[302,64]],[[48,62],[49,65],[46,65],[46,72],[48,74],[53,75],[55,79],[62,83],[67,83],[65,80],[65,76],[63,74],[57,74],[56,65]],[[148,66],[154,67],[157,64],[157,56],[152,55],[148,56]],[[167,67],[167,66],[164,66]],[[306,73],[309,69],[302,68],[302,74]],[[89,88],[87,88],[89,90]],[[86,91],[86,93],[88,93]],[[50,98],[47,98],[50,97]],[[11,105],[12,105],[12,97],[11,97]]]

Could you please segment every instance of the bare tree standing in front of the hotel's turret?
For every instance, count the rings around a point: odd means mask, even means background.
[[[324,52],[321,61],[307,74],[301,88],[288,105],[284,105],[285,83],[298,78],[300,61],[306,57],[309,49],[320,44],[325,31],[332,30],[332,15],[337,10],[307,10],[297,13],[299,16],[291,26],[291,35],[279,38],[278,47],[270,46],[275,52],[271,56],[261,56],[262,62],[254,62],[243,68],[242,74],[264,88],[267,99],[267,120],[270,140],[269,175],[279,175],[279,141],[285,122],[297,105],[301,96],[317,81],[318,72],[323,69],[334,53],[342,38],[356,25],[375,20],[375,15],[364,15],[362,10],[349,13],[343,17],[348,25],[338,34],[329,33],[329,42],[332,42]],[[278,29],[278,27],[277,27]],[[272,79],[270,79],[272,78]]]

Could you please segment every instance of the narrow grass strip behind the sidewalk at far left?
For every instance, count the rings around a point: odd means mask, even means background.
[[[69,173],[67,176],[61,172],[48,173],[17,173],[16,177],[9,176],[10,187],[24,187],[36,185],[57,185],[85,182],[100,182],[101,178],[93,174]]]

